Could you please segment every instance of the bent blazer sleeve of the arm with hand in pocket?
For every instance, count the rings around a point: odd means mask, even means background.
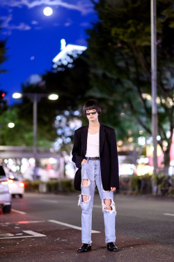
[[[77,168],[81,168],[81,161],[84,159],[81,155],[81,143],[77,136],[77,132],[74,132],[74,146],[72,148],[72,161]]]

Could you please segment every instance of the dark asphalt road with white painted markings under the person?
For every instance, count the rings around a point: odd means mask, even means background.
[[[114,195],[116,245],[106,250],[100,198],[93,205],[92,252],[81,246],[78,194],[25,194],[13,199],[10,214],[0,214],[0,261],[156,262],[174,261],[174,201]]]

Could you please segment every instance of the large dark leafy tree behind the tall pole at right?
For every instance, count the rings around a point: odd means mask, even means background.
[[[134,125],[139,130],[141,126],[146,136],[151,136],[150,1],[93,0],[93,3],[98,20],[87,31],[93,85],[90,94],[108,100],[106,110],[115,112],[115,117],[109,118],[113,126],[127,122],[127,128]],[[158,143],[164,152],[166,166],[169,165],[174,128],[173,17],[173,1],[158,0],[157,103],[161,136]],[[166,134],[168,130],[170,138]],[[168,143],[167,150],[163,147],[164,140]]]

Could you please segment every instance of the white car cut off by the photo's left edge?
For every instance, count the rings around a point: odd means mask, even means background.
[[[3,213],[10,213],[11,211],[11,194],[8,187],[8,177],[0,165],[0,208]]]

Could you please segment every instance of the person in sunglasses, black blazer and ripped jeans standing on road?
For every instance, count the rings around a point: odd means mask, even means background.
[[[74,132],[72,161],[81,168],[81,242],[77,252],[91,251],[92,210],[95,187],[100,194],[104,213],[106,247],[109,251],[118,251],[115,220],[116,206],[113,191],[119,188],[118,152],[116,133],[109,126],[101,124],[98,115],[102,112],[95,100],[88,100],[83,107],[83,115],[88,125]]]

